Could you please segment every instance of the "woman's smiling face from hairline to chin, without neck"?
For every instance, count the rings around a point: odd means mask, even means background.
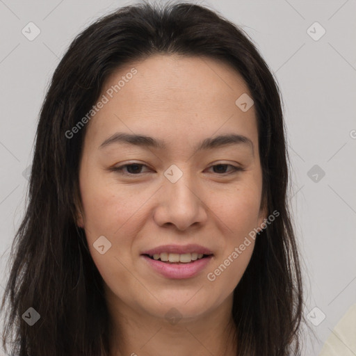
[[[152,56],[106,81],[83,144],[78,225],[111,305],[162,319],[231,307],[246,236],[266,218],[254,106],[235,103],[244,93],[232,67],[197,57]]]

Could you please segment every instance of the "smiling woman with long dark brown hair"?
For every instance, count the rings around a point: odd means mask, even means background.
[[[237,26],[190,3],[97,20],[42,106],[3,345],[300,355],[287,158],[277,84]]]

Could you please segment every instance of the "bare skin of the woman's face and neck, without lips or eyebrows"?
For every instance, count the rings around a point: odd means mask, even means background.
[[[235,355],[232,293],[254,240],[216,280],[207,273],[266,218],[254,106],[243,112],[235,104],[250,92],[241,75],[219,61],[156,55],[120,68],[102,94],[132,67],[138,73],[88,123],[79,172],[77,223],[104,279],[111,356],[159,356],[168,348],[171,356]],[[122,143],[99,149],[118,131],[159,138],[167,149]],[[248,145],[193,152],[204,138],[224,133],[250,138],[253,152]],[[129,163],[144,166],[124,169],[131,176],[108,170]],[[164,175],[172,164],[183,172],[174,184]],[[227,166],[212,167],[218,164]],[[93,247],[102,235],[112,244],[105,254]],[[214,255],[195,277],[168,279],[140,254],[171,243],[197,243]],[[172,308],[181,316],[176,324],[165,318]]]

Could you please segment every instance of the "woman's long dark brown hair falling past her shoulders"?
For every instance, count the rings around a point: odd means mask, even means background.
[[[103,280],[76,226],[79,161],[86,126],[71,130],[120,66],[152,54],[207,56],[231,65],[248,84],[257,113],[262,201],[280,216],[256,239],[234,290],[238,356],[300,355],[302,280],[287,188],[289,161],[282,97],[252,40],[207,7],[138,3],[88,26],[70,44],[40,111],[29,179],[29,204],[15,236],[3,347],[19,356],[99,356],[109,350]],[[94,119],[95,120],[95,119]],[[22,318],[30,307],[40,320]]]

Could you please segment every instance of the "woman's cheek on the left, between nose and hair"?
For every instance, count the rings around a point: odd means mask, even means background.
[[[114,270],[119,274],[124,270],[120,278],[125,279],[127,270],[124,266],[131,264],[134,236],[145,223],[142,208],[152,193],[137,194],[137,190],[119,186],[95,172],[88,172],[82,178],[84,225],[92,259],[104,280],[111,280]],[[97,241],[104,241],[103,249],[108,246],[107,252],[100,254]]]

